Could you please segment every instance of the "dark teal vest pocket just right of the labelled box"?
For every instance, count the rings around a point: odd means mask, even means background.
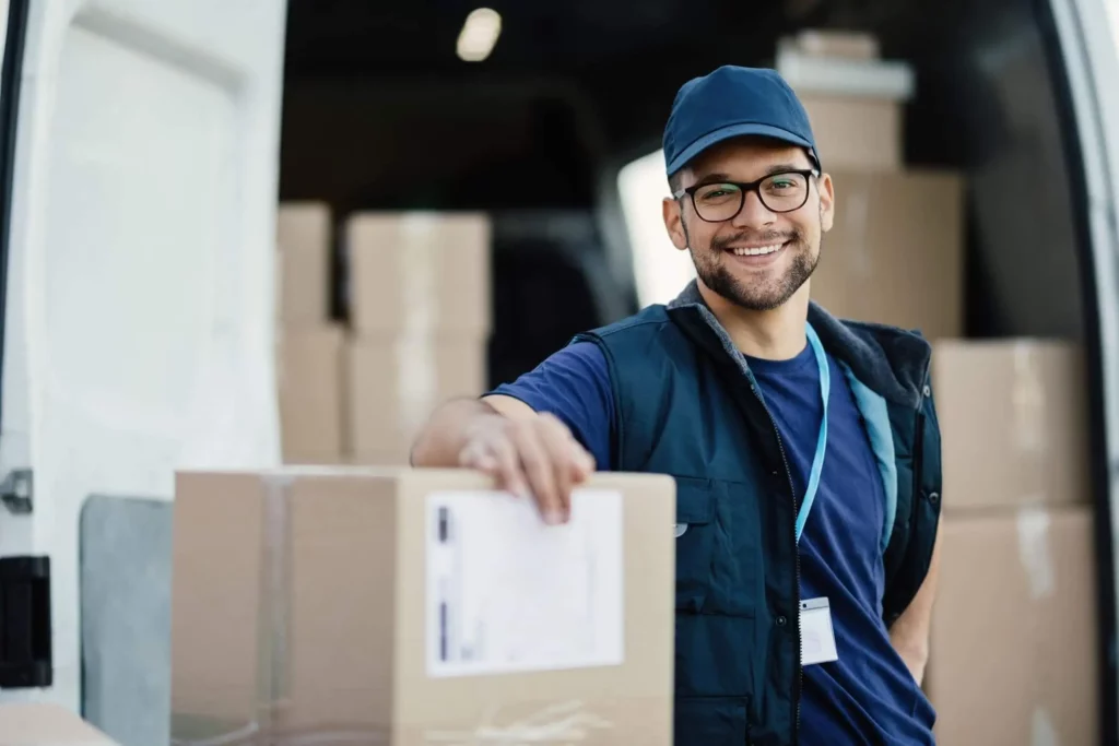
[[[707,480],[676,478],[676,608],[698,613],[714,569],[715,493]]]

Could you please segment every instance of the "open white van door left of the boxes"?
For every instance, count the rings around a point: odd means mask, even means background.
[[[76,710],[86,499],[170,500],[178,468],[279,461],[272,256],[285,8],[3,4],[26,26],[3,226],[0,558],[49,558],[53,672],[49,687],[7,689],[0,701]]]

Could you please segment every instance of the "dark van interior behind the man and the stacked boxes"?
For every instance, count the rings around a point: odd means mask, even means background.
[[[852,29],[873,32],[884,58],[915,73],[906,164],[966,174],[967,336],[1088,341],[1084,386],[1090,410],[1100,412],[1084,176],[1047,7],[570,0],[492,8],[502,18],[497,46],[485,62],[466,63],[455,38],[471,3],[292,0],[280,187],[282,200],[326,200],[336,214],[489,213],[491,385],[638,308],[618,174],[659,149],[680,84],[721,64],[770,64],[778,39],[799,29]],[[335,312],[345,317],[344,304]],[[1103,506],[1099,416],[1092,427]],[[1107,641],[1110,537],[1108,521],[1097,523]],[[1104,743],[1116,735],[1111,658],[1102,667]]]

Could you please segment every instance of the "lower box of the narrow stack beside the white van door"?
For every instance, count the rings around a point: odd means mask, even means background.
[[[346,452],[345,331],[338,325],[289,328],[276,339],[284,462],[341,463]]]

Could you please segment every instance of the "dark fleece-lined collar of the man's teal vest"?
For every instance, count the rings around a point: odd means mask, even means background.
[[[693,311],[715,332],[723,350],[742,365],[730,334],[699,293],[695,280],[668,304],[671,313]],[[845,362],[871,390],[894,404],[921,406],[929,378],[932,347],[918,332],[883,324],[840,321],[818,304],[810,303],[808,321],[828,352]]]

